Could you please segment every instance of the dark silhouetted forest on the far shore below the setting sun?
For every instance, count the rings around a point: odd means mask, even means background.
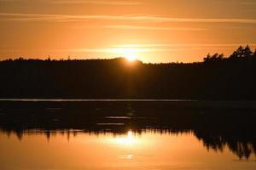
[[[253,100],[255,73],[249,46],[197,63],[7,59],[0,62],[0,98]]]

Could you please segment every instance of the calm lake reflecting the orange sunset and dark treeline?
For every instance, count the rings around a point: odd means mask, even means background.
[[[0,169],[256,168],[250,102],[1,100]]]

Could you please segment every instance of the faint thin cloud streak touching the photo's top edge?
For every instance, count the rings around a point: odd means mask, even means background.
[[[96,5],[141,5],[141,2],[135,1],[117,1],[117,0],[55,0],[51,3],[56,4],[96,4]]]

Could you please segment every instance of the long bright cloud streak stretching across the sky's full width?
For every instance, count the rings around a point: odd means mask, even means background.
[[[204,19],[204,18],[172,18],[153,15],[67,15],[67,14],[9,14],[0,13],[0,20],[12,21],[63,21],[79,22],[84,20],[123,20],[143,22],[189,22],[189,23],[240,23],[256,24],[256,19]]]

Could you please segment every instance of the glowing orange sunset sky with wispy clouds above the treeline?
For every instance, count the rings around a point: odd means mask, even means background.
[[[255,0],[0,0],[0,59],[201,61],[256,48]]]

